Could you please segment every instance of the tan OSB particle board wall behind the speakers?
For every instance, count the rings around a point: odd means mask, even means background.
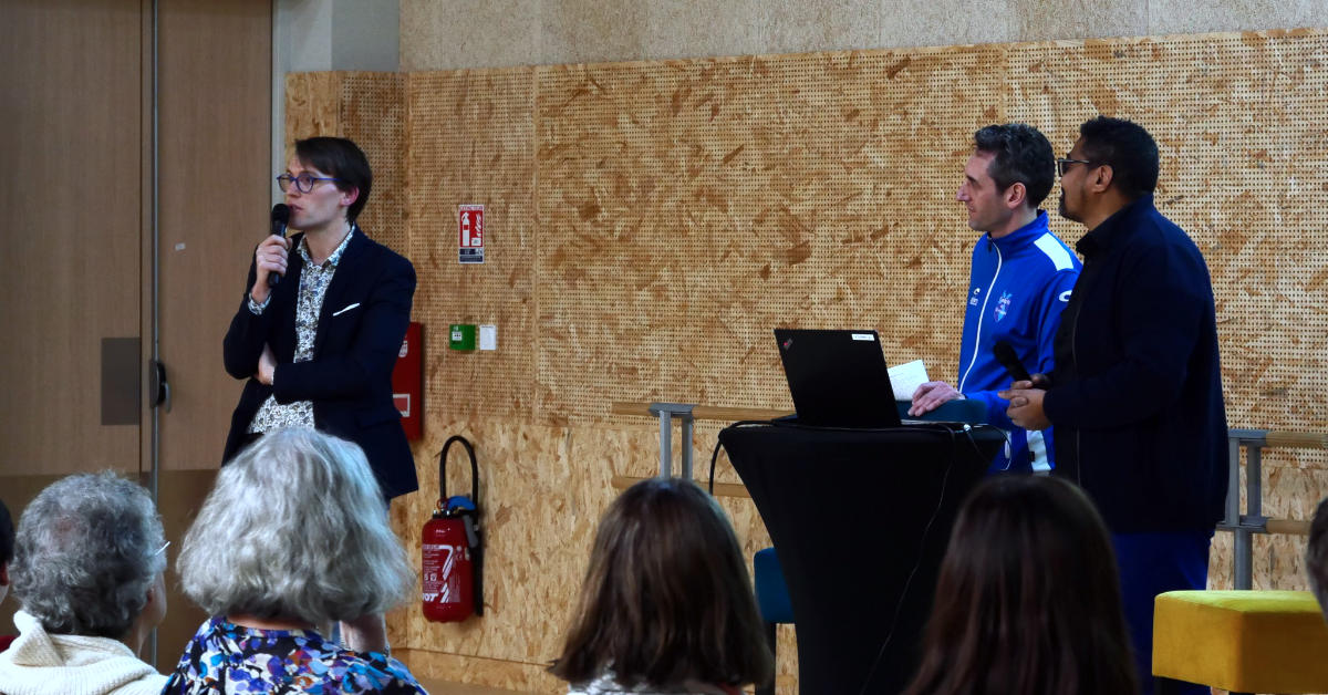
[[[393,510],[412,551],[444,439],[479,445],[490,611],[392,621],[440,675],[556,691],[539,668],[608,478],[655,466],[653,425],[611,401],[788,407],[769,336],[786,324],[876,327],[890,361],[954,375],[975,235],[952,198],[989,122],[1032,122],[1058,151],[1097,113],[1146,124],[1159,206],[1212,272],[1231,425],[1328,428],[1328,32],[300,74],[287,113],[292,134],[381,153],[365,227],[420,274],[426,492]],[[382,210],[392,197],[405,210]],[[453,255],[461,203],[486,206],[482,267]],[[371,213],[401,214],[405,238]],[[1082,234],[1054,214],[1053,229]],[[456,322],[497,323],[499,351],[442,349]],[[714,431],[699,429],[699,461]],[[1323,456],[1272,453],[1266,476],[1274,516],[1305,518],[1328,492]],[[768,542],[749,502],[726,506],[748,551]],[[1301,587],[1300,547],[1260,540],[1256,586]],[[1230,538],[1215,549],[1220,586]]]

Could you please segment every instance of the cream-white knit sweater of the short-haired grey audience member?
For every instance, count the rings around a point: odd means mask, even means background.
[[[166,676],[122,642],[105,637],[50,635],[32,615],[13,615],[19,639],[0,652],[5,695],[157,695]]]

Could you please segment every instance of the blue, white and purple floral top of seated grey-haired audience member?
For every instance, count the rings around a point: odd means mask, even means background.
[[[247,692],[428,695],[405,664],[312,630],[258,630],[211,618],[189,641],[162,695]]]

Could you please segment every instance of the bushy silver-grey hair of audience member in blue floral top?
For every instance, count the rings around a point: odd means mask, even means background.
[[[315,625],[380,614],[414,574],[359,447],[304,428],[268,432],[216,476],[185,536],[185,593],[212,615]]]

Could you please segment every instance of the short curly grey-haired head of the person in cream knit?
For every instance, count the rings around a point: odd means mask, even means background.
[[[69,476],[19,520],[15,597],[48,633],[120,639],[166,569],[165,544],[141,485],[109,470]]]

